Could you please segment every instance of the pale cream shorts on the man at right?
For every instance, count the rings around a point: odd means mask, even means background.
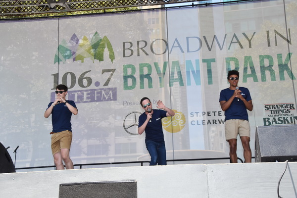
[[[250,127],[247,120],[231,119],[225,122],[226,140],[237,139],[237,136],[250,137]]]

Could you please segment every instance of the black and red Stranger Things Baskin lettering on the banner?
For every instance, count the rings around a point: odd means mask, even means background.
[[[264,104],[264,109],[268,113],[268,116],[263,118],[264,126],[297,123],[294,103]]]

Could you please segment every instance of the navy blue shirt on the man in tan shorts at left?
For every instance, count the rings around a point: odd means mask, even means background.
[[[74,101],[67,100],[69,104],[77,108]],[[48,108],[53,102],[49,102]],[[71,116],[72,113],[68,109],[65,103],[60,102],[56,104],[51,111],[51,123],[52,123],[52,132],[57,133],[65,130],[71,130]]]

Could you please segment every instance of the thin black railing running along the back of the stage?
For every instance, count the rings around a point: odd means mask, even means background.
[[[254,157],[252,157],[254,158]],[[220,160],[220,159],[229,159],[230,157],[219,157],[219,158],[198,158],[198,159],[167,159],[167,162],[175,162],[175,161],[201,161],[201,160]],[[244,161],[238,157],[238,160],[240,160],[242,163]],[[88,163],[88,164],[74,164],[74,167],[79,166],[79,169],[82,169],[83,166],[98,166],[98,165],[115,165],[115,164],[135,164],[139,163],[141,166],[144,165],[144,163],[149,163],[149,161],[126,161],[126,162],[105,162],[105,163]],[[15,168],[15,170],[22,170],[22,169],[38,169],[38,168],[55,168],[54,165],[51,166],[34,166],[34,167],[21,167],[21,168]]]

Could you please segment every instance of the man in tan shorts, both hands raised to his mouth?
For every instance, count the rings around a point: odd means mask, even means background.
[[[48,118],[51,114],[52,132],[51,151],[54,164],[57,170],[63,170],[65,163],[66,169],[73,169],[73,162],[69,152],[72,141],[71,116],[76,115],[78,110],[74,101],[66,100],[68,88],[65,85],[56,86],[56,98],[54,102],[49,102],[45,112]]]

